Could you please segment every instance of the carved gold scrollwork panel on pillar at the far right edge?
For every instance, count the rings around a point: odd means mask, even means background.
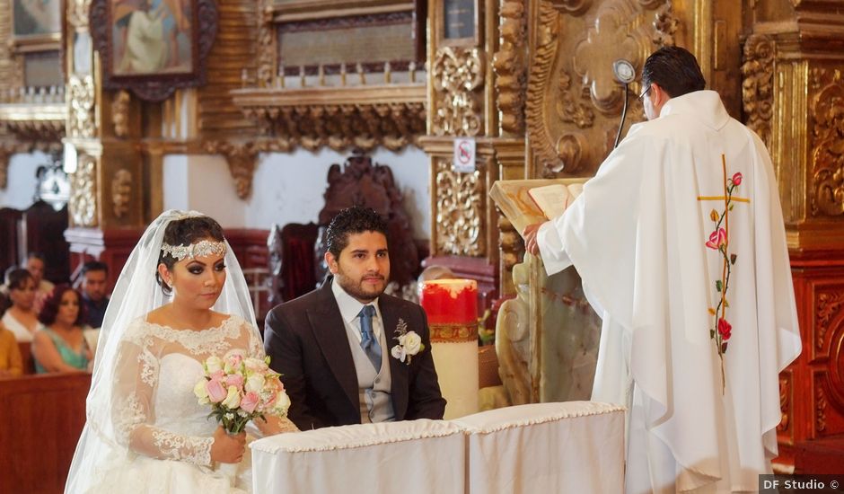
[[[814,216],[844,214],[844,81],[839,69],[812,70],[814,95],[809,105],[813,118],[812,165]]]

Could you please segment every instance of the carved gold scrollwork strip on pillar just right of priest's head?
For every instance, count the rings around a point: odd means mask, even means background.
[[[744,43],[742,103],[747,127],[770,147],[770,120],[774,114],[774,43],[765,35],[753,34]]]

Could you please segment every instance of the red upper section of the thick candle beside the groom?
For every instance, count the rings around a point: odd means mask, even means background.
[[[478,322],[478,283],[474,279],[436,279],[422,284],[419,304],[430,324]]]

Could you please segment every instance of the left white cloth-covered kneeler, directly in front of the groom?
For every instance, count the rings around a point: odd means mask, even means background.
[[[419,419],[280,434],[251,444],[260,494],[464,494],[465,440]]]

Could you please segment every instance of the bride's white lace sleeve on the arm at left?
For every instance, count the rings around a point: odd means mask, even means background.
[[[191,437],[172,433],[154,424],[153,393],[158,382],[159,359],[152,338],[124,340],[121,363],[115,376],[112,420],[118,441],[130,450],[163,460],[211,464],[214,437]]]

